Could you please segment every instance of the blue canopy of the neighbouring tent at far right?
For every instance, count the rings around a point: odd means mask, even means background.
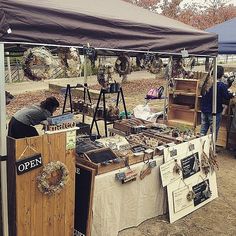
[[[218,35],[219,54],[236,54],[236,18],[206,29]]]

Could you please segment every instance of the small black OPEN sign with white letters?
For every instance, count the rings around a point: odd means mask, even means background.
[[[24,159],[16,161],[16,170],[18,175],[39,168],[43,165],[41,153],[31,155]]]

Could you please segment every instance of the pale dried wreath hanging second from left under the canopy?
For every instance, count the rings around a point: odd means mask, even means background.
[[[59,48],[58,58],[62,66],[66,68],[68,76],[78,76],[81,72],[81,59],[79,51],[74,48]]]

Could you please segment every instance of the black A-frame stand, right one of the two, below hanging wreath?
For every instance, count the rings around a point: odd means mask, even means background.
[[[99,97],[98,97],[98,101],[97,101],[97,105],[96,105],[96,109],[95,109],[95,112],[94,112],[94,115],[93,115],[93,121],[92,121],[92,124],[91,124],[91,132],[92,132],[94,123],[96,124],[96,127],[97,127],[97,123],[96,123],[97,122],[97,117],[96,117],[96,115],[97,115],[97,112],[98,112],[99,104],[100,104],[101,99],[102,99],[102,102],[103,102],[103,118],[102,119],[104,120],[105,136],[107,137],[107,133],[108,133],[107,125],[113,124],[113,121],[108,121],[108,119],[107,119],[106,94],[117,94],[116,106],[118,106],[118,104],[119,104],[119,99],[120,99],[120,95],[121,95],[121,99],[122,99],[122,103],[123,103],[123,106],[124,106],[124,111],[125,111],[126,119],[128,119],[128,114],[127,114],[127,110],[126,110],[123,90],[122,90],[121,87],[117,91],[115,91],[115,92],[110,92],[107,89],[101,88],[100,94],[99,94]],[[97,127],[97,130],[98,130],[98,127]],[[98,134],[99,134],[99,130],[98,130]]]

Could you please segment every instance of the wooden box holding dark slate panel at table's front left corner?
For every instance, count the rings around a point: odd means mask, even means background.
[[[77,157],[77,163],[89,166],[96,170],[96,175],[107,173],[125,167],[125,160],[119,163],[112,162],[118,157],[110,148],[100,148],[86,152],[83,156]],[[103,164],[106,161],[111,163]]]

